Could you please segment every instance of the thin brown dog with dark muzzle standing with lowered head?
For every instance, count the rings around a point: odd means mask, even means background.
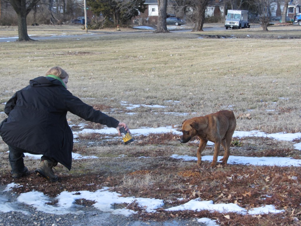
[[[220,146],[225,150],[224,157],[219,161],[227,164],[230,155],[230,144],[236,127],[236,119],[233,111],[218,111],[213,114],[187,119],[182,124],[181,143],[187,143],[192,137],[200,138],[200,145],[197,149],[197,165],[201,165],[201,153],[209,141],[214,143],[214,154],[211,167],[216,167]]]

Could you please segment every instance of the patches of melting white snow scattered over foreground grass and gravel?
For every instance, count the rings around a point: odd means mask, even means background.
[[[125,105],[128,109],[133,109],[136,107],[140,107],[141,105],[131,105],[127,102],[122,102],[123,105]],[[148,105],[143,105],[148,106]],[[151,105],[152,108],[160,108],[164,106],[160,105]],[[2,113],[2,112],[0,112]],[[177,114],[175,112],[170,112],[170,114]],[[135,114],[135,113],[132,113]],[[178,113],[180,114],[180,113]],[[183,113],[181,113],[183,114]],[[70,127],[72,129],[73,125],[72,122],[70,123]],[[74,138],[78,137],[80,133],[102,133],[102,134],[116,134],[116,137],[110,137],[110,139],[121,139],[117,135],[117,131],[115,128],[104,128],[104,129],[85,129],[85,124],[79,124],[79,126],[82,130],[80,131],[74,131],[73,136]],[[150,128],[150,127],[141,127],[138,129],[131,129],[132,137],[135,139],[135,136],[139,135],[148,135],[150,133],[174,133],[174,134],[182,134],[182,132],[172,128],[172,126],[166,126],[166,127],[158,127],[158,128]],[[298,139],[301,137],[301,133],[272,133],[267,134],[264,132],[260,132],[257,130],[253,131],[235,131],[233,137],[269,137],[275,140],[284,140],[284,141],[292,141],[294,139]],[[78,140],[74,140],[74,142],[78,142]],[[214,144],[212,142],[207,143],[208,146],[213,146]],[[301,150],[301,143],[294,144],[294,148],[297,150]],[[24,153],[26,155],[26,158],[35,158],[40,159],[41,155],[31,155],[28,153]],[[98,158],[96,156],[82,156],[80,154],[72,153],[73,160],[76,161],[77,159],[84,159],[84,158]],[[171,155],[172,158],[175,159],[182,159],[182,161],[197,161],[197,157],[195,156],[188,156],[188,155]],[[222,158],[222,156],[220,156]],[[122,158],[122,157],[121,157]],[[205,155],[202,156],[202,161],[212,161],[213,156],[212,155]],[[228,164],[244,164],[244,165],[277,165],[277,166],[301,166],[301,160],[300,159],[292,159],[287,157],[244,157],[244,156],[233,156],[230,155],[228,159]],[[294,178],[297,180],[297,177]],[[30,191],[27,193],[21,193],[15,202],[10,202],[6,196],[5,193],[10,192],[13,187],[21,186],[19,184],[11,183],[7,184],[6,188],[0,192],[0,211],[1,212],[16,212],[20,211],[24,214],[29,214],[26,210],[22,210],[17,208],[18,203],[23,203],[26,205],[30,205],[33,208],[36,208],[39,211],[50,213],[50,214],[66,214],[66,213],[73,213],[73,214],[79,214],[79,212],[76,211],[76,199],[87,199],[95,201],[95,204],[93,206],[97,209],[99,209],[102,212],[110,212],[111,214],[122,214],[125,216],[129,216],[132,214],[135,214],[133,210],[129,209],[112,209],[112,206],[114,204],[118,203],[132,203],[134,200],[138,202],[138,204],[145,209],[146,212],[156,212],[156,209],[158,208],[164,208],[164,202],[163,199],[154,199],[154,198],[136,198],[134,196],[132,197],[122,197],[121,194],[116,192],[109,191],[109,187],[103,187],[100,190],[96,190],[95,192],[90,191],[63,191],[61,192],[57,197],[50,198],[39,191]],[[76,193],[76,195],[75,195]],[[47,202],[51,202],[52,200],[57,199],[57,205],[47,205]],[[179,199],[181,200],[181,199]],[[200,198],[197,199],[191,199],[185,204],[174,206],[168,209],[165,209],[166,211],[178,211],[178,210],[195,210],[195,211],[201,211],[201,210],[209,210],[209,211],[218,211],[222,213],[227,212],[237,212],[242,215],[258,215],[258,214],[268,214],[268,213],[280,213],[284,210],[278,210],[275,209],[274,205],[266,205],[258,208],[253,208],[250,210],[246,210],[237,204],[234,203],[219,203],[214,204],[213,200],[201,200]],[[209,219],[209,218],[200,218],[197,220],[198,222],[203,222],[208,225],[218,225],[216,224],[215,220]]]

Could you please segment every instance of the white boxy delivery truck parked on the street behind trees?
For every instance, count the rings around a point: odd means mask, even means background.
[[[247,10],[228,10],[226,16],[225,27],[226,29],[230,28],[250,28],[248,22],[249,11]]]

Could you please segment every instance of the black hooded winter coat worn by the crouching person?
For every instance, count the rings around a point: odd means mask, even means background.
[[[116,128],[115,118],[73,96],[51,77],[37,77],[17,91],[5,105],[8,115],[0,124],[0,135],[9,146],[54,158],[69,170],[72,164],[73,133],[67,111],[87,121]]]

